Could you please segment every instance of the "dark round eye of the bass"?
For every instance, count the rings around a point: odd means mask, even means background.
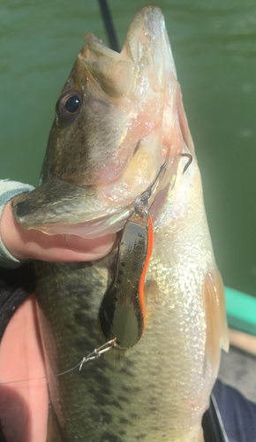
[[[61,95],[56,103],[56,113],[63,121],[74,118],[81,103],[81,94],[78,90],[70,90]]]

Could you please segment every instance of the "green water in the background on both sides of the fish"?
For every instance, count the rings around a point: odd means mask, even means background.
[[[256,296],[256,2],[155,1],[164,12],[224,283]],[[119,41],[140,0],[109,0]],[[96,1],[1,0],[0,177],[36,186],[55,103]]]

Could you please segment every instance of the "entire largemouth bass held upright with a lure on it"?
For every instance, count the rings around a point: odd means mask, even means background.
[[[186,171],[182,155],[193,158]],[[41,186],[19,196],[13,213],[26,230],[119,238],[148,189],[154,246],[139,293],[145,324],[128,348],[116,342],[81,370],[53,376],[108,341],[100,309],[116,284],[117,248],[91,263],[35,263],[48,442],[202,441],[220,348],[228,350],[200,171],[153,5],[136,14],[120,54],[85,35],[56,103]]]

